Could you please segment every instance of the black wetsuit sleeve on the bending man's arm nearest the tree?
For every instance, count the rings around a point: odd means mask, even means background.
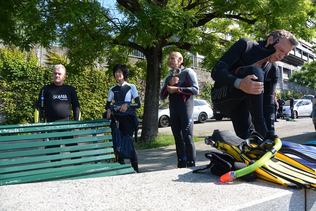
[[[234,87],[237,77],[228,71],[229,67],[236,62],[246,48],[246,40],[244,38],[238,40],[228,49],[228,51],[217,61],[214,66],[211,77],[220,84]]]

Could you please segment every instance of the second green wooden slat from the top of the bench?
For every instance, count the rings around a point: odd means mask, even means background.
[[[99,134],[99,133],[111,133],[111,128],[67,131],[67,132],[58,132],[58,133],[38,133],[38,134],[30,134],[30,135],[3,136],[0,138],[0,141],[3,142],[3,141],[46,139],[46,138],[65,137],[65,136],[74,136],[74,135],[90,135],[90,134]]]

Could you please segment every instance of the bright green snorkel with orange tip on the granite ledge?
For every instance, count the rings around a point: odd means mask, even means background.
[[[257,162],[247,166],[246,168],[243,168],[237,171],[230,171],[222,175],[221,181],[226,182],[226,181],[234,180],[238,177],[242,177],[246,174],[256,171],[281,148],[282,142],[279,137],[276,137],[274,139],[274,142],[275,142],[275,145],[270,150],[268,150],[268,152],[266,152]]]

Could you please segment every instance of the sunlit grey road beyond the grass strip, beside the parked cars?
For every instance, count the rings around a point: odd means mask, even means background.
[[[316,132],[310,117],[299,117],[295,119],[297,121],[286,121],[278,119],[279,122],[275,122],[276,134],[280,136],[283,141],[290,141],[299,144],[306,143],[308,141],[316,140]],[[141,126],[139,127],[138,135],[141,134]],[[210,136],[215,129],[234,131],[232,122],[230,119],[223,119],[217,121],[215,119],[209,119],[203,124],[194,123],[193,134],[195,136]],[[159,128],[159,133],[172,134],[171,127]]]

